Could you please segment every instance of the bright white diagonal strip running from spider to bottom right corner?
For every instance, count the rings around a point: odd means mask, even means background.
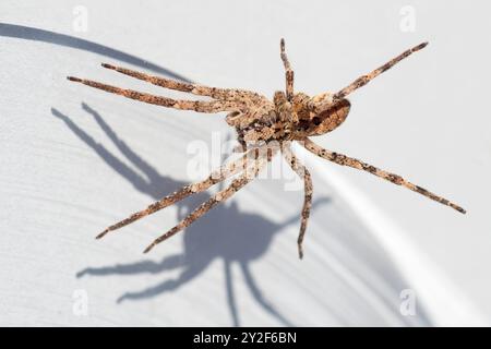
[[[308,156],[307,149],[294,145],[297,154],[309,163],[352,208],[370,229],[396,267],[410,280],[418,302],[424,304],[436,326],[489,326],[490,322],[408,238],[407,233],[382,213],[374,203],[322,159]],[[310,154],[311,155],[311,154]]]

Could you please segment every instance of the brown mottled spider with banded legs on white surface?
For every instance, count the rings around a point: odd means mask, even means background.
[[[169,79],[147,75],[110,64],[103,64],[103,67],[165,88],[187,92],[199,96],[206,96],[213,99],[171,99],[132,89],[123,89],[91,80],[69,76],[68,80],[73,82],[79,82],[91,87],[124,96],[127,98],[163,107],[181,110],[194,110],[197,112],[207,113],[228,111],[229,113],[226,117],[226,121],[229,125],[236,129],[238,141],[243,146],[243,155],[239,159],[225,164],[219,169],[213,171],[205,180],[185,185],[175,193],[165,196],[160,201],[153,203],[147,208],[106,228],[96,238],[100,239],[109,231],[124,227],[142,217],[172,205],[191,194],[205,191],[212,185],[240,173],[240,176],[235,179],[229,186],[213,195],[208,201],[201,204],[177,226],[155,239],[154,242],[145,249],[144,253],[146,253],[156,244],[184,229],[194,220],[206,214],[211,208],[215,207],[220,202],[226,201],[233,193],[242,189],[258,176],[259,171],[265,166],[265,164],[271,161],[273,156],[279,151],[290,165],[291,169],[297,172],[304,182],[304,203],[301,214],[302,219],[300,234],[298,237],[298,252],[301,258],[303,256],[302,241],[312,205],[312,180],[308,169],[291,152],[290,143],[294,141],[299,142],[308,151],[324,159],[381,177],[394,184],[406,186],[419,194],[465,214],[465,209],[460,206],[457,206],[448,200],[435,195],[419,185],[408,182],[400,176],[381,170],[372,165],[346,155],[324,149],[309,139],[309,136],[331,132],[345,121],[350,108],[350,103],[346,99],[346,96],[355,89],[364,86],[372,79],[391,69],[412,52],[419,51],[427,45],[428,43],[422,43],[404,51],[369,74],[358,77],[351,84],[335,94],[323,93],[314,97],[309,97],[303,93],[294,93],[294,71],[291,70],[285,52],[285,40],[282,39],[280,57],[286,71],[286,93],[279,91],[276,92],[273,101],[251,91],[208,87],[183,83]],[[250,161],[251,157],[252,161]],[[249,172],[249,174],[247,172]],[[250,176],[251,173],[252,176]]]

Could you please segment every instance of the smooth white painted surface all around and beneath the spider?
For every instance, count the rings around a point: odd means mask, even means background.
[[[399,29],[408,3],[415,33]],[[76,5],[87,9],[87,32],[73,29]],[[2,1],[0,324],[489,324],[488,8]],[[469,214],[309,159],[318,205],[302,262],[295,243],[302,193],[280,180],[251,184],[148,256],[143,248],[206,195],[95,241],[108,224],[190,180],[190,142],[228,130],[220,116],[124,100],[65,75],[165,93],[99,68],[109,61],[272,96],[283,88],[282,36],[296,88],[310,94],[429,39],[354,95],[348,121],[319,142],[405,174]],[[416,316],[399,313],[404,289],[416,291]],[[84,294],[88,314],[80,315]]]

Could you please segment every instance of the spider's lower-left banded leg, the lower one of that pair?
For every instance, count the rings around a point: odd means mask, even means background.
[[[259,164],[253,166],[252,173],[242,173],[239,178],[233,180],[229,186],[226,189],[217,192],[215,195],[213,195],[209,200],[197,206],[191,214],[189,214],[184,219],[182,219],[177,226],[175,226],[172,229],[168,230],[165,234],[158,237],[154,240],[146,249],[143,251],[143,253],[148,253],[153,248],[155,248],[160,242],[169,239],[170,237],[175,236],[182,229],[189,227],[193,221],[202,217],[204,214],[206,214],[209,209],[217,206],[218,204],[225,202],[227,198],[229,198],[231,195],[237,193],[239,190],[241,190],[246,184],[251,182],[255,177],[258,177],[260,170],[264,167],[264,164],[266,163],[266,157],[261,157],[259,159]],[[252,174],[252,176],[251,176]]]

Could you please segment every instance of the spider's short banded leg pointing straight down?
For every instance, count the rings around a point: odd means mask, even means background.
[[[303,207],[302,207],[302,221],[300,225],[300,233],[298,236],[298,256],[300,260],[303,257],[303,238],[306,236],[306,229],[307,229],[307,222],[309,221],[310,216],[310,209],[312,207],[312,193],[313,193],[313,185],[312,185],[312,178],[310,176],[309,170],[303,166],[300,160],[295,156],[295,154],[291,152],[290,146],[285,146],[283,148],[283,155],[288,163],[288,165],[291,167],[291,169],[297,172],[297,174],[303,180],[303,191],[304,191],[304,200],[303,200]]]

